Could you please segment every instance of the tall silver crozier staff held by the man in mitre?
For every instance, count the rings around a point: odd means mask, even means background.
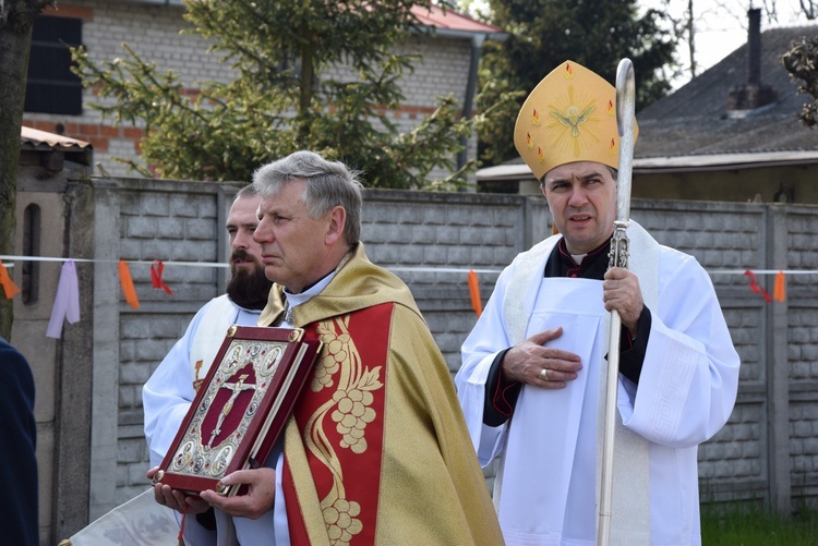
[[[625,231],[630,223],[630,177],[634,162],[634,63],[623,59],[616,68],[616,130],[619,133],[619,170],[616,191],[616,219],[611,240],[610,267],[627,267],[628,238]],[[611,539],[611,505],[613,502],[613,458],[616,426],[616,389],[619,381],[619,330],[622,319],[617,311],[611,312],[611,331],[608,349],[608,384],[605,386],[605,436],[602,450],[602,485],[600,494],[598,546],[608,546]]]

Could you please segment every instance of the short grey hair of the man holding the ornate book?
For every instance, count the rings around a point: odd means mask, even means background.
[[[275,197],[290,181],[306,181],[301,201],[310,218],[321,218],[336,206],[344,207],[347,211],[344,236],[352,245],[361,239],[360,174],[340,161],[327,161],[314,151],[301,150],[258,168],[253,173],[253,187],[266,199]]]

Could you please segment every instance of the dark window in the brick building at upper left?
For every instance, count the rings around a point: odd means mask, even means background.
[[[40,16],[32,32],[25,111],[77,116],[83,111],[80,77],[71,72],[69,47],[82,45],[82,20]]]

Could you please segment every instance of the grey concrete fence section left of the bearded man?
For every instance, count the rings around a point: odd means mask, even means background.
[[[116,489],[101,497],[107,501],[92,506],[92,517],[105,513],[108,502],[119,505],[145,489],[142,385],[184,333],[199,307],[224,291],[226,268],[168,264],[163,280],[173,293],[167,294],[153,288],[149,264],[154,259],[226,263],[224,226],[236,190],[233,185],[123,179],[116,192],[116,209],[107,210],[118,218],[119,258],[144,263],[130,266],[139,310],[119,302],[117,389],[101,388],[101,403],[116,408],[116,424],[109,423],[107,433],[117,441],[116,461],[100,463],[107,471],[100,474],[98,484],[107,487],[107,480],[113,480]]]

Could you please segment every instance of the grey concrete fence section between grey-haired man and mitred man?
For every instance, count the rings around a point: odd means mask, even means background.
[[[453,373],[460,365],[460,344],[474,325],[465,270],[498,271],[498,264],[509,263],[525,245],[520,201],[485,197],[370,192],[364,206],[366,254],[412,289]],[[481,278],[486,300],[497,274]]]

